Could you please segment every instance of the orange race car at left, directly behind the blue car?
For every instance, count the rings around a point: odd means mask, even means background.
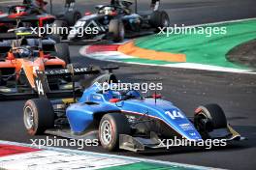
[[[56,43],[54,51],[46,52],[43,50],[43,41],[37,35],[24,35],[0,34],[2,43],[5,43],[7,38],[13,40],[12,47],[7,52],[1,53],[3,48],[0,50],[0,99],[45,95],[41,93],[47,93],[48,98],[69,97],[73,94],[73,86],[79,89],[79,84],[72,81],[71,71],[67,69],[70,63],[67,43]],[[38,46],[29,45],[28,40],[32,39],[37,40]],[[42,77],[38,77],[38,71],[44,71],[44,83],[40,81]],[[100,73],[94,67],[80,67],[73,71],[74,75],[83,77],[84,74],[89,76]],[[42,92],[42,89],[47,91]]]

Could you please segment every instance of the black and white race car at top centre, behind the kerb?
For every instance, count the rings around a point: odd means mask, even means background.
[[[117,1],[111,5],[96,6],[97,13],[86,13],[75,24],[68,36],[69,41],[79,40],[112,40],[152,34],[159,28],[170,24],[169,16],[164,11],[152,11],[149,14],[132,13],[133,3]],[[137,4],[136,4],[137,5]]]

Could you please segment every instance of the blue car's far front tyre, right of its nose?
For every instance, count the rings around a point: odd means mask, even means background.
[[[227,128],[227,118],[218,104],[207,104],[196,109],[194,117],[195,127],[208,137],[208,132],[217,128]]]

